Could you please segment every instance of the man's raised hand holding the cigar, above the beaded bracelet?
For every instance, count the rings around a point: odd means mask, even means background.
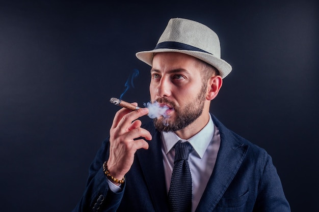
[[[141,128],[142,122],[137,119],[147,113],[147,108],[134,111],[122,108],[115,114],[110,130],[110,157],[107,165],[110,174],[117,179],[122,179],[128,172],[138,149],[148,149],[144,139],[134,140],[139,137],[152,139],[150,132]]]

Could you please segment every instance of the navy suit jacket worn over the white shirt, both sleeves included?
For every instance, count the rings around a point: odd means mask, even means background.
[[[228,130],[212,115],[221,136],[216,164],[196,212],[290,211],[272,158],[264,149]],[[109,157],[109,139],[102,143],[89,168],[82,199],[73,211],[168,212],[160,133],[150,122],[149,149],[139,149],[123,189],[113,193],[102,171]]]

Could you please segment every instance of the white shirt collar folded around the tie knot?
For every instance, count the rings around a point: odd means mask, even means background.
[[[209,114],[209,121],[207,125],[196,135],[187,140],[193,146],[194,150],[200,158],[203,157],[206,148],[212,140],[212,137],[214,136],[214,130],[214,122],[212,122],[211,116]],[[179,140],[186,141],[179,138],[174,132],[161,132],[161,134],[165,154],[168,154]]]

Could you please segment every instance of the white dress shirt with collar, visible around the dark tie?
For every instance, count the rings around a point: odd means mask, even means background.
[[[192,212],[195,211],[214,169],[220,147],[219,130],[214,126],[209,115],[209,122],[196,135],[188,140],[180,139],[174,132],[162,132],[162,153],[167,192],[170,188],[174,167],[175,144],[182,140],[193,146],[189,155],[189,166],[192,174]]]

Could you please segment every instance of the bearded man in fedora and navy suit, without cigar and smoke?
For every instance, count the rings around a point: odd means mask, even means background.
[[[231,71],[215,32],[173,18],[137,57],[165,115],[142,125],[147,108],[116,113],[74,211],[290,211],[267,152],[209,113]]]

